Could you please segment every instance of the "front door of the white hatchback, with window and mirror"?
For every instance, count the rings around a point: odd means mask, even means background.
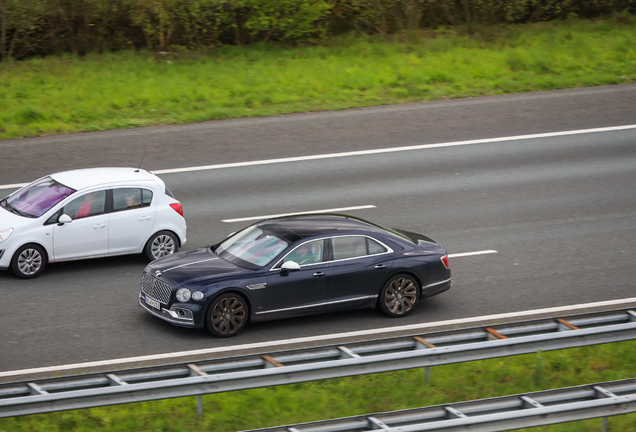
[[[62,208],[61,214],[72,221],[55,224],[53,254],[55,260],[108,254],[108,213],[106,191],[85,193]]]

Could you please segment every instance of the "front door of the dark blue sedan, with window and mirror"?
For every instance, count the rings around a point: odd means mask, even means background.
[[[267,276],[267,318],[320,313],[325,310],[328,264],[324,239],[305,242],[281,259]],[[299,270],[281,266],[294,261]]]

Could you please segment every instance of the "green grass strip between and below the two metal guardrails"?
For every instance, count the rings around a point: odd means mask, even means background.
[[[237,431],[636,376],[636,341],[204,396],[0,419],[0,432]],[[597,432],[601,419],[531,429]],[[636,414],[609,419],[636,431]]]

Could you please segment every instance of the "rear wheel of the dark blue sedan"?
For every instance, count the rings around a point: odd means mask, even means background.
[[[399,274],[386,281],[380,291],[380,309],[391,318],[403,317],[415,309],[420,287],[409,275]]]

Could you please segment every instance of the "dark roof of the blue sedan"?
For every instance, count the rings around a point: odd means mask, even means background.
[[[387,230],[361,218],[342,214],[311,214],[285,216],[258,222],[259,228],[277,237],[295,242],[306,237],[337,234],[338,232],[378,232]]]

